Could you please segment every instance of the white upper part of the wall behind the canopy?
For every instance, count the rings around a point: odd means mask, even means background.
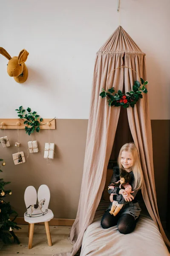
[[[0,118],[88,119],[95,54],[119,25],[117,0],[0,0],[0,47],[25,48],[17,84],[0,55]],[[170,0],[121,0],[121,26],[147,54],[151,119],[170,119]],[[152,91],[152,92],[151,92]]]

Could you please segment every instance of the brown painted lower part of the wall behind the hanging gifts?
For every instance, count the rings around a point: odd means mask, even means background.
[[[6,130],[10,147],[0,145],[0,157],[6,161],[2,166],[0,177],[12,181],[8,188],[13,194],[9,200],[23,216],[25,204],[24,191],[27,186],[33,185],[36,189],[41,184],[47,184],[51,192],[49,208],[54,212],[55,218],[75,218],[81,189],[84,153],[86,145],[87,119],[57,119],[56,130],[40,131],[35,134],[39,152],[29,154],[27,158],[27,142],[32,140],[24,130],[20,130],[20,151],[24,151],[26,163],[14,165],[12,154],[17,152],[14,143],[17,141],[16,130]],[[170,120],[151,120],[153,134],[153,159],[156,182],[157,201],[160,218],[166,220],[168,172],[170,160]],[[0,131],[3,136],[4,131]],[[44,144],[49,141],[55,143],[54,160],[50,164],[43,158]],[[6,186],[7,187],[7,186]]]

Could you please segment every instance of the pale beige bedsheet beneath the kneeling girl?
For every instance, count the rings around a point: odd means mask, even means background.
[[[117,226],[103,229],[100,221],[106,204],[100,204],[95,219],[86,229],[80,256],[169,256],[162,236],[154,221],[140,216],[135,230],[121,234]]]

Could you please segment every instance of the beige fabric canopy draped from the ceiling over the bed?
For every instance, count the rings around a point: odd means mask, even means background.
[[[69,240],[74,244],[73,249],[70,253],[59,253],[55,256],[74,256],[77,253],[81,247],[84,232],[92,223],[100,202],[121,107],[109,107],[107,99],[101,99],[99,94],[102,87],[107,89],[106,81],[109,73],[122,65],[131,67],[146,80],[145,54],[119,26],[96,55],[81,195],[77,216],[69,236]],[[125,91],[130,91],[134,81],[138,80],[138,75],[133,70],[129,68],[115,70],[109,76],[107,86],[115,87],[117,92],[123,90],[124,85]],[[145,181],[142,189],[144,202],[153,221],[158,225],[165,243],[170,246],[161,226],[156,203],[147,94],[137,102],[134,108],[127,108],[127,116],[133,140],[141,157]]]

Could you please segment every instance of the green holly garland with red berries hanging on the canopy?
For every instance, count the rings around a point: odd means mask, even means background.
[[[133,85],[133,90],[130,92],[123,94],[121,90],[118,90],[118,93],[114,95],[112,93],[115,92],[114,87],[108,89],[107,91],[102,88],[102,92],[100,93],[101,98],[108,97],[109,106],[123,106],[124,108],[129,108],[131,106],[134,108],[136,102],[141,98],[143,98],[142,93],[147,93],[147,88],[145,85],[148,84],[148,81],[144,81],[144,79],[140,78],[141,83],[139,81],[135,81]]]

